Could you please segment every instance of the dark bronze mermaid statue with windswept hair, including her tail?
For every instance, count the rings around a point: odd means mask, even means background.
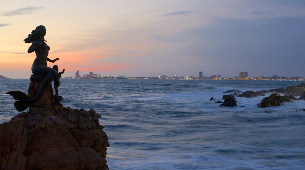
[[[33,75],[40,75],[43,77],[43,79],[40,89],[32,98],[28,97],[27,94],[21,91],[10,91],[6,93],[14,97],[16,100],[14,106],[19,112],[27,109],[30,104],[40,97],[57,76],[57,71],[47,66],[47,61],[54,63],[59,60],[59,58],[54,60],[48,58],[50,47],[46,44],[47,41],[44,39],[45,33],[45,26],[40,25],[32,31],[32,34],[29,34],[28,37],[23,40],[25,43],[32,43],[27,52],[31,53],[35,51],[36,54],[36,58],[32,65]]]

